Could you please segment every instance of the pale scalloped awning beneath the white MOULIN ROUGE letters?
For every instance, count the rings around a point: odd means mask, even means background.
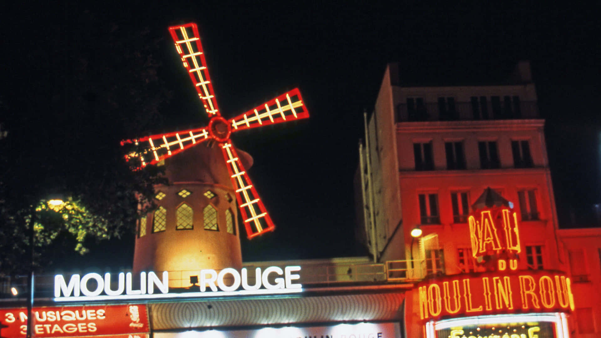
[[[401,321],[404,292],[272,296],[148,304],[154,331],[203,327]]]

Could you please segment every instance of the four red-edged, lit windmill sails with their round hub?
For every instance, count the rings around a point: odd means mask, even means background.
[[[248,177],[240,161],[240,156],[231,143],[230,136],[245,129],[308,118],[309,114],[301,93],[295,88],[263,105],[226,120],[222,117],[217,105],[197,25],[187,23],[172,26],[169,28],[169,32],[192,84],[203,102],[204,109],[209,115],[209,124],[204,128],[121,141],[121,145],[135,144],[138,149],[141,149],[127,155],[127,161],[137,161],[136,166],[144,167],[156,164],[201,143],[217,146],[221,148],[227,164],[248,238],[251,239],[272,231],[275,228],[273,221]]]

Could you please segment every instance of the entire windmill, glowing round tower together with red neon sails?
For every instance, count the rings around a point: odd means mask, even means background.
[[[309,114],[301,93],[294,89],[226,120],[215,99],[197,25],[173,26],[169,32],[209,115],[209,125],[121,144],[137,146],[138,151],[126,159],[136,161],[138,167],[165,161],[171,182],[156,186],[158,207],[139,223],[133,271],[181,271],[169,274],[169,285],[186,287],[200,269],[241,267],[236,204],[249,239],[275,229],[246,173],[252,158],[233,146],[231,134]]]

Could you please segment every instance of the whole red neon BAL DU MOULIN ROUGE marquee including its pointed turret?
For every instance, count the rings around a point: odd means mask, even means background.
[[[561,271],[520,269],[513,203],[488,188],[468,217],[472,257],[481,271],[430,277],[413,289],[426,338],[569,337],[572,280]],[[407,319],[409,321],[409,319]]]

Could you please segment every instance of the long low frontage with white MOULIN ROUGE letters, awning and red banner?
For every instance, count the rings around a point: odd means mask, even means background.
[[[38,289],[53,297],[36,300],[32,332],[43,338],[403,336],[407,284],[307,287],[299,265],[204,269],[198,276],[204,288],[169,287],[169,275],[55,275]],[[0,324],[1,337],[25,337],[27,310],[0,310]]]

